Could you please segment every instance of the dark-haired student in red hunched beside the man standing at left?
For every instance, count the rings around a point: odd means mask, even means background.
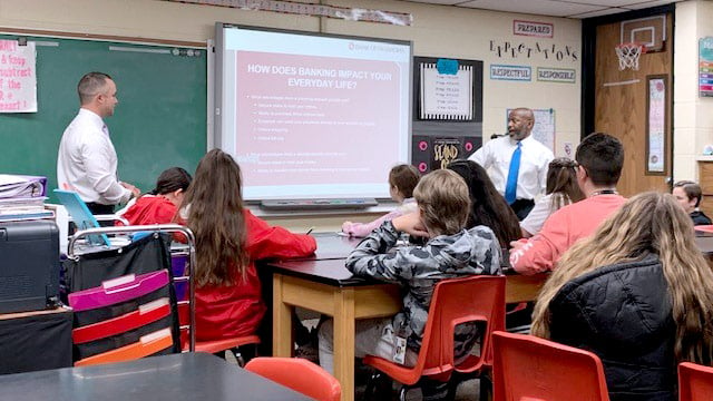
[[[172,223],[189,185],[191,174],[180,167],[170,167],[158,176],[154,190],[119,214],[129,225]]]

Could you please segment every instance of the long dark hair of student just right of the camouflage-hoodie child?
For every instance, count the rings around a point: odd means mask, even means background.
[[[448,165],[448,169],[458,173],[468,185],[470,213],[466,227],[490,227],[500,246],[507,246],[520,238],[520,222],[517,215],[495,188],[485,168],[472,160],[453,160]]]

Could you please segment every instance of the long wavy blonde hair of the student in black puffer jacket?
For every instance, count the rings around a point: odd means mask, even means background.
[[[713,271],[695,244],[691,218],[670,194],[631,198],[594,235],[557,264],[535,305],[533,334],[549,338],[549,303],[564,284],[599,267],[653,253],[663,265],[672,316],[674,353],[681,361],[713,362]]]

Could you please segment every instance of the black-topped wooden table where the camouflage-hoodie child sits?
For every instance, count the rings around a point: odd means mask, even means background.
[[[359,319],[385,317],[401,310],[399,286],[353,276],[344,267],[339,252],[351,251],[335,235],[318,235],[318,253],[300,261],[280,261],[265,266],[273,273],[273,355],[292,355],[292,312],[295,306],[334,317],[334,376],[342,385],[342,400],[354,398],[354,322]],[[353,247],[358,241],[350,239]],[[533,301],[546,275],[508,275],[506,301]]]

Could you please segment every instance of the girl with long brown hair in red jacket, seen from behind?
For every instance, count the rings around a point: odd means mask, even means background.
[[[196,338],[255,334],[265,314],[255,261],[299,257],[316,250],[313,237],[271,227],[243,205],[241,169],[219,149],[208,151],[180,209],[196,239]]]

